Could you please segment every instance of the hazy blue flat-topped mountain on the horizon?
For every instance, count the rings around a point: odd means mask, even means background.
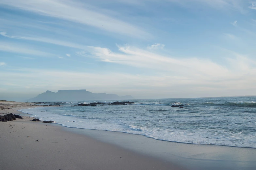
[[[59,90],[51,92],[47,90],[37,97],[28,99],[29,102],[54,102],[54,101],[80,101],[80,100],[129,100],[132,96],[118,96],[116,94],[92,93],[86,90]]]

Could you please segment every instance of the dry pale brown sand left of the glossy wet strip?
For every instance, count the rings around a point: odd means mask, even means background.
[[[1,107],[3,114],[19,114],[21,112],[15,109],[35,106],[29,103],[1,102]],[[28,121],[31,119],[24,117],[23,120],[0,122],[0,169],[183,169],[170,162],[65,131],[61,126]]]

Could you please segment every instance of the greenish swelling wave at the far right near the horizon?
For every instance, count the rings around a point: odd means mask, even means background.
[[[230,102],[230,103],[213,103],[213,102],[206,102],[202,103],[202,105],[207,106],[235,106],[235,107],[256,107],[256,102]]]

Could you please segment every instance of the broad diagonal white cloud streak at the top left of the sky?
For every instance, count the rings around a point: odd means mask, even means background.
[[[115,34],[145,38],[151,35],[136,25],[115,19],[87,8],[78,1],[59,0],[3,0],[0,4],[20,8],[40,15],[77,22]],[[99,10],[101,11],[101,10]]]

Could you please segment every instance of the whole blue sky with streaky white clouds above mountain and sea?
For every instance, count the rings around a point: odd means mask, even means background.
[[[0,0],[0,99],[256,95],[256,1]]]

